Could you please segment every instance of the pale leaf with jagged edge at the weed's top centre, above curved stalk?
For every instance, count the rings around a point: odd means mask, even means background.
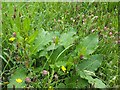
[[[76,34],[75,31],[69,31],[67,33],[63,33],[60,36],[60,45],[63,45],[65,48],[72,44],[74,40],[77,38],[77,36],[74,36]]]

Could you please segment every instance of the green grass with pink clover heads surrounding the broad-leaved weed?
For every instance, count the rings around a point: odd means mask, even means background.
[[[36,51],[37,53],[34,53],[34,55],[31,55],[29,51],[29,47],[31,47],[32,44],[28,42],[34,41],[34,38],[37,36],[37,33],[34,35],[33,33],[43,29],[51,33],[59,32],[58,37],[62,33],[67,33],[69,30],[74,30],[79,37],[77,42],[81,42],[83,37],[96,32],[99,35],[99,47],[93,54],[102,54],[103,61],[97,71],[95,71],[95,74],[105,83],[105,85],[107,85],[107,87],[118,87],[118,3],[114,2],[3,2],[3,35],[1,34],[1,56],[3,59],[3,69],[1,74],[1,77],[3,77],[2,83],[10,81],[9,78],[15,71],[14,68],[18,67],[21,63],[26,66],[26,69],[29,72],[30,70],[33,70],[27,75],[32,79],[35,79],[35,77],[32,76],[36,76],[36,78],[39,77],[40,73],[38,72],[42,71],[42,69],[38,68],[38,66],[44,65],[44,63],[50,63],[49,58],[51,58],[51,55],[53,54],[50,51],[45,51],[43,53],[38,53]],[[16,34],[16,39],[15,41],[10,42],[9,39],[13,36],[13,34]],[[47,42],[45,41],[46,38],[43,36],[43,39],[41,39],[43,40],[44,44]],[[55,42],[57,43],[57,39],[55,39]],[[44,50],[46,50],[46,47],[44,47]],[[46,52],[48,54],[46,54]],[[44,62],[46,59],[42,56],[47,58],[47,62]],[[32,69],[33,65],[35,69]],[[49,64],[47,65],[49,66]],[[51,70],[48,69],[47,66],[46,69]],[[51,81],[48,81],[48,84],[50,84],[49,86],[52,86],[51,83],[54,70],[52,69],[50,72]],[[63,76],[61,76],[61,78],[62,77]],[[48,78],[49,75],[43,79],[43,87],[46,87],[44,83],[47,82]],[[58,82],[55,83],[60,82],[58,80]],[[86,81],[83,81],[83,83],[84,82]],[[7,84],[2,85],[4,87]],[[38,78],[36,82],[33,80],[31,84],[32,87],[40,87],[39,85],[41,85],[41,83],[39,82]],[[54,85],[52,87],[54,87]]]

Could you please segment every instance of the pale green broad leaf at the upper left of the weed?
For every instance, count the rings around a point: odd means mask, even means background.
[[[47,31],[40,30],[34,41],[34,45],[30,48],[31,54],[43,50],[45,45],[52,41],[53,35]]]

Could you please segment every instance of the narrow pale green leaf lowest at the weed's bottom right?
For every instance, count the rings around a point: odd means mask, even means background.
[[[81,78],[88,80],[88,82],[92,84],[95,88],[106,88],[106,85],[100,79],[94,79],[87,72],[79,71],[79,74]]]

